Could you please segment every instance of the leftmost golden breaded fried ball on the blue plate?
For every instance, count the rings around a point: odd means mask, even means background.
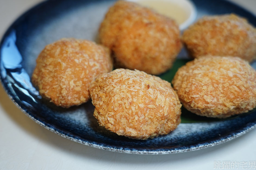
[[[96,76],[113,69],[110,50],[88,40],[63,38],[46,45],[36,60],[32,82],[61,107],[87,102]]]

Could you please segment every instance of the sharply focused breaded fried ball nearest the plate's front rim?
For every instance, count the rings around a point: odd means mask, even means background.
[[[164,135],[180,123],[180,101],[171,84],[143,71],[116,69],[90,87],[99,125],[133,139]]]

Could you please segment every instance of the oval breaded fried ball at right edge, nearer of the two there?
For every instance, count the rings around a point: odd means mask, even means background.
[[[256,107],[256,71],[238,57],[196,58],[172,83],[182,105],[197,115],[226,118]]]

